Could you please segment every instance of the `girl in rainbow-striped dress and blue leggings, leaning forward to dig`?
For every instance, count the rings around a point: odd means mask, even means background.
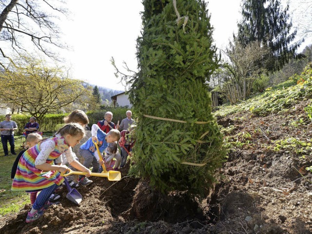
[[[27,223],[37,220],[52,205],[48,199],[64,181],[60,172],[65,173],[68,170],[65,165],[54,164],[54,160],[63,152],[69,164],[90,176],[91,171],[74,159],[71,150],[84,134],[83,127],[78,123],[68,123],[58,130],[55,137],[39,142],[25,151],[20,158],[11,190],[29,193],[41,191],[28,212]]]

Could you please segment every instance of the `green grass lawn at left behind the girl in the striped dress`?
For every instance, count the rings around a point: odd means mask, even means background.
[[[22,138],[25,141],[25,138]],[[20,153],[22,148],[21,139],[19,136],[15,137],[15,151]],[[8,144],[10,152],[10,145]],[[0,216],[8,213],[16,213],[25,204],[30,203],[29,194],[26,192],[13,192],[11,191],[11,169],[17,155],[4,156],[3,147],[0,143]],[[2,192],[5,190],[4,192]]]

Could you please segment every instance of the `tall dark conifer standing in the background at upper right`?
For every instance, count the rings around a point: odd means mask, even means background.
[[[280,0],[243,0],[243,19],[238,23],[237,39],[242,44],[259,41],[272,52],[273,62],[266,67],[269,71],[281,69],[295,58],[301,42],[292,43],[296,30],[292,31],[289,6],[281,9]]]

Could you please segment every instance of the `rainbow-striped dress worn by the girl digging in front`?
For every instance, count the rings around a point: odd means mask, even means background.
[[[63,152],[67,151],[69,145],[66,144],[64,137],[57,136],[49,140],[55,142],[55,150],[52,151],[46,163],[54,165],[54,159],[58,158]],[[34,191],[48,188],[53,184],[61,185],[64,178],[59,171],[41,171],[35,167],[36,157],[40,153],[40,145],[45,140],[39,142],[34,147],[26,150],[20,158],[20,162],[12,183],[12,191]]]

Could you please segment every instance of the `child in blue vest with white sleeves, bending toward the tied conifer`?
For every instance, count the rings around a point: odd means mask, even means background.
[[[117,129],[112,129],[108,134],[104,133],[97,124],[92,125],[91,136],[85,143],[80,146],[79,154],[84,157],[83,165],[86,168],[89,168],[92,164],[92,172],[98,173],[100,164],[97,148],[94,145],[93,141],[98,142],[98,149],[100,154],[103,153],[105,148],[108,146],[108,143],[118,141],[120,138],[120,133]],[[118,153],[119,154],[119,153]],[[119,167],[119,165],[116,165]],[[93,181],[86,178],[85,176],[79,176],[78,183],[81,185],[89,185]]]

